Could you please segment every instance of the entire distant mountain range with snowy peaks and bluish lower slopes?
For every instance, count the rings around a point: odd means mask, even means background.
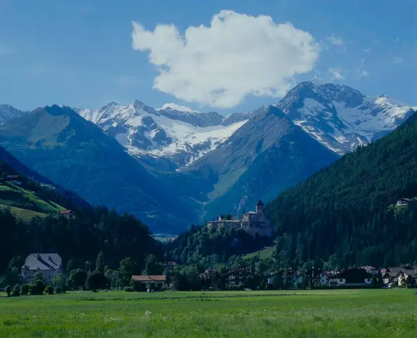
[[[133,101],[97,110],[0,106],[0,145],[93,205],[177,232],[254,202],[381,138],[414,110],[386,95],[316,81],[277,104],[226,117]]]

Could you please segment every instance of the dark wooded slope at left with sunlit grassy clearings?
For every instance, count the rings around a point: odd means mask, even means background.
[[[18,173],[0,160],[0,177]],[[144,264],[150,253],[160,254],[161,243],[133,216],[117,215],[105,207],[80,208],[24,175],[17,180],[21,185],[0,183],[0,275],[10,259],[32,252],[58,252],[64,264],[74,259],[76,266],[84,266],[103,250],[112,268],[126,257]],[[58,213],[64,207],[72,209],[69,218]]]

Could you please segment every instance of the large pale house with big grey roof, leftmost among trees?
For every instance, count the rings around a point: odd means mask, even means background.
[[[45,282],[63,272],[63,260],[57,253],[31,254],[24,260],[22,266],[22,278],[30,283],[36,273],[42,273]]]

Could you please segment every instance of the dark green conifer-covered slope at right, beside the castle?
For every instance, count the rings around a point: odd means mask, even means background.
[[[282,264],[393,266],[417,259],[416,114],[388,136],[359,147],[329,168],[281,193],[266,211],[279,238]]]

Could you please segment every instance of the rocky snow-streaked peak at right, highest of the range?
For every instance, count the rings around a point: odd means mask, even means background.
[[[348,86],[316,81],[299,83],[276,106],[337,154],[381,138],[414,113],[386,95],[369,97]]]

